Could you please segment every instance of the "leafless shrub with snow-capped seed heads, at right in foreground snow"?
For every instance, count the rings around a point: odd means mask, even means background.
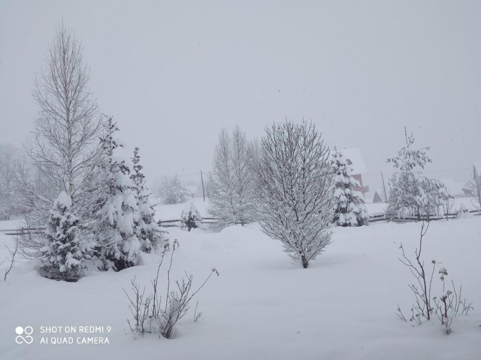
[[[448,275],[448,272],[445,267],[442,267],[438,270],[438,274],[440,274],[440,279],[443,282],[443,290],[442,295],[438,298],[434,296],[431,298],[431,285],[432,279],[434,276],[436,264],[435,260],[431,261],[432,264],[432,271],[431,274],[427,272],[428,270],[424,266],[424,261],[421,260],[421,249],[422,249],[422,240],[423,237],[426,235],[426,232],[429,228],[429,220],[425,222],[423,220],[421,226],[421,234],[419,237],[419,247],[416,248],[416,262],[412,262],[409,260],[404,252],[403,244],[399,247],[402,250],[402,256],[399,257],[399,261],[405,264],[411,274],[416,277],[416,281],[414,284],[409,284],[409,288],[413,292],[415,296],[415,304],[411,307],[411,317],[409,321],[414,322],[418,325],[422,323],[422,319],[430,320],[433,315],[437,315],[438,319],[440,320],[441,324],[445,327],[446,333],[449,334],[451,332],[451,324],[453,319],[457,316],[459,310],[461,310],[461,314],[467,315],[469,310],[473,309],[472,303],[468,303],[466,299],[461,299],[461,290],[462,286],[459,287],[459,290],[456,290],[454,282],[451,280],[451,284],[453,285],[453,290],[446,290],[444,289],[444,280],[445,276]],[[397,307],[396,315],[403,321],[407,321],[404,314],[401,312],[401,308]]]

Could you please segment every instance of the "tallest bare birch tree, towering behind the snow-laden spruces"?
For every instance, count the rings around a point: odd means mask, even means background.
[[[16,185],[24,222],[42,228],[51,204],[64,191],[81,218],[84,235],[99,187],[96,183],[101,148],[101,119],[90,93],[89,66],[75,34],[59,24],[45,66],[35,79],[33,96],[39,108],[31,138],[23,145],[24,161],[18,165]],[[44,246],[43,232],[20,239],[27,257],[38,256]]]

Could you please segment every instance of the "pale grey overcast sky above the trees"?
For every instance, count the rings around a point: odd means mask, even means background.
[[[208,170],[221,126],[260,137],[286,116],[360,148],[369,173],[391,171],[404,125],[431,146],[430,170],[467,168],[481,160],[480,13],[476,0],[1,0],[0,142],[27,137],[63,18],[148,178]]]

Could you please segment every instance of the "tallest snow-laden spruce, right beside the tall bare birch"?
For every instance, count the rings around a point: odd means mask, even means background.
[[[104,123],[101,137],[103,157],[99,186],[104,189],[94,213],[95,239],[98,246],[96,264],[101,270],[123,270],[134,266],[140,249],[136,236],[134,216],[138,212],[134,185],[124,160],[114,156],[114,150],[122,147],[114,139],[118,131],[109,118]]]

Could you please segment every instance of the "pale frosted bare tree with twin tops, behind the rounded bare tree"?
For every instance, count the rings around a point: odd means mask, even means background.
[[[218,219],[214,224],[217,229],[244,226],[256,219],[252,148],[240,127],[235,127],[232,136],[221,129],[208,181],[208,211]]]

